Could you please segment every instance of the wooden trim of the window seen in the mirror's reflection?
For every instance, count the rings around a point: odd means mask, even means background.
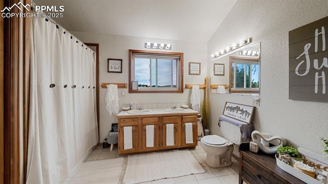
[[[229,57],[229,93],[233,94],[233,93],[252,93],[252,94],[259,94],[260,93],[260,86],[259,88],[241,88],[238,87],[236,88],[232,88],[232,84],[231,84],[231,64],[232,62],[235,61],[242,61],[243,63],[255,63],[257,62],[258,64],[260,64],[260,60],[259,58],[251,58],[251,57],[234,57],[234,56],[230,56]],[[258,81],[260,82],[260,78],[258,79]],[[243,89],[243,90],[240,90]]]

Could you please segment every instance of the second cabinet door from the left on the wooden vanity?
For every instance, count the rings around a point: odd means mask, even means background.
[[[152,134],[151,132],[147,134],[147,126],[154,126],[153,130],[153,136],[147,137],[147,135]],[[159,125],[142,125],[142,137],[141,137],[141,151],[152,151],[152,150],[158,150],[160,148],[159,146]],[[147,141],[151,142],[153,141],[153,145],[150,144],[147,147]]]

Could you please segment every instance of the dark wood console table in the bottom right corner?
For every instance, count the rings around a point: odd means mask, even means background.
[[[304,181],[280,169],[276,164],[274,154],[265,154],[261,151],[249,151],[249,143],[239,146],[239,184],[247,183],[292,183],[301,184]]]

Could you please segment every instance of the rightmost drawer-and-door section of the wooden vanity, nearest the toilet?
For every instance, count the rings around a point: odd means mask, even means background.
[[[192,123],[193,126],[193,143],[186,144],[186,123]],[[197,146],[197,116],[182,116],[182,123],[181,123],[181,146]]]

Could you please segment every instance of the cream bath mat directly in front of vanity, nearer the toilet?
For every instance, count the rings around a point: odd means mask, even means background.
[[[204,173],[189,150],[144,153],[128,156],[124,184]]]

